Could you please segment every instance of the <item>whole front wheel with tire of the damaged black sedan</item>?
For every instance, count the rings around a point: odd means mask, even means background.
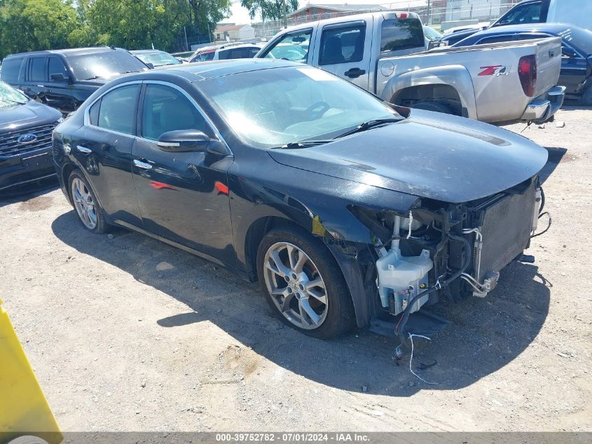
[[[330,339],[352,328],[354,311],[345,278],[326,246],[301,228],[270,231],[259,244],[263,293],[284,323]]]

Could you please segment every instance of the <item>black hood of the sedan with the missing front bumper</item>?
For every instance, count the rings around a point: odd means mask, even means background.
[[[450,203],[514,187],[547,159],[545,149],[510,131],[418,109],[329,144],[268,153],[286,166]]]

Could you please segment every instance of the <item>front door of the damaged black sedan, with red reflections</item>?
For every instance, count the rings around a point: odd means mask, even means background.
[[[144,83],[133,173],[144,229],[234,263],[227,170],[232,156],[212,152],[165,152],[156,141],[173,130],[214,136],[198,105],[181,88]]]

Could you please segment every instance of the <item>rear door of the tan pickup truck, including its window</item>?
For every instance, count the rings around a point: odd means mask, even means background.
[[[369,89],[372,19],[324,25],[315,43],[312,65]]]

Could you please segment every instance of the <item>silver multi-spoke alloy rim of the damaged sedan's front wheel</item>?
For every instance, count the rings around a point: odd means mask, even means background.
[[[314,330],[325,321],[325,283],[315,263],[296,245],[271,245],[263,260],[263,278],[275,306],[290,323]]]

